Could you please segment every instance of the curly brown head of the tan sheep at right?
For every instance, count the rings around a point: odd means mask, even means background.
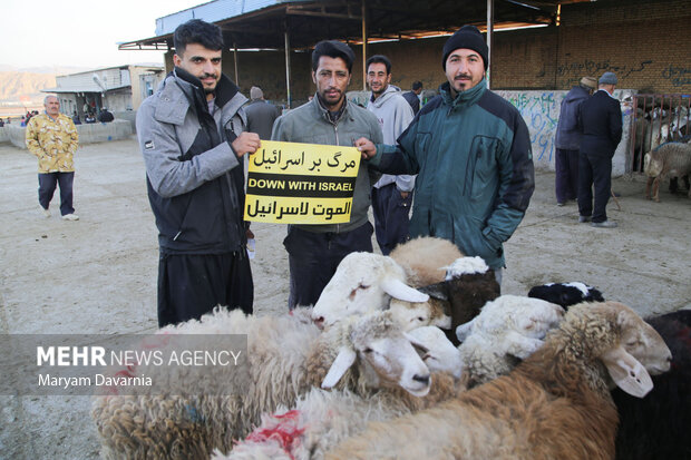
[[[573,312],[573,313],[572,313]],[[610,389],[643,398],[652,390],[649,373],[670,369],[672,353],[655,330],[619,302],[583,303],[570,309],[561,330],[571,335],[573,349],[600,360],[607,370]],[[574,337],[582,337],[574,341]],[[574,343],[582,342],[582,343]]]

